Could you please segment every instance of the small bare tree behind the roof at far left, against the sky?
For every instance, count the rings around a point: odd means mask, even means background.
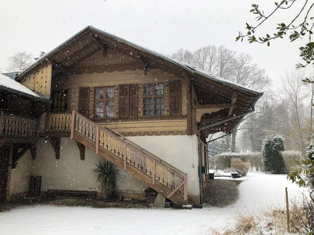
[[[21,71],[34,61],[33,57],[32,54],[25,51],[14,53],[14,55],[8,58],[9,66],[7,69],[12,72]]]

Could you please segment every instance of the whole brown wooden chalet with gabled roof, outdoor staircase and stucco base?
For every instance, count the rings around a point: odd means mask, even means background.
[[[30,175],[42,176],[42,194],[101,191],[90,170],[105,158],[120,169],[118,193],[142,198],[151,187],[177,205],[202,203],[206,137],[231,133],[262,95],[93,26],[15,80],[51,105],[27,114],[36,151],[19,158],[15,171],[27,177],[11,173],[8,198],[28,191]]]

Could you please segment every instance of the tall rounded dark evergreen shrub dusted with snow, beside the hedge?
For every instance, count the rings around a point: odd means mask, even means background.
[[[281,135],[266,136],[263,140],[262,154],[265,171],[272,174],[285,174],[287,169],[282,158],[284,141]]]

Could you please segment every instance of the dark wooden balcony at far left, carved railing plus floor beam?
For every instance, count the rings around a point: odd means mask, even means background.
[[[39,120],[0,111],[0,144],[35,143],[39,134]]]

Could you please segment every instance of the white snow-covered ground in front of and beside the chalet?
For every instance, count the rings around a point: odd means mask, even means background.
[[[230,177],[219,177],[219,179]],[[255,213],[271,205],[284,206],[285,187],[290,198],[303,189],[286,175],[249,172],[240,186],[239,200],[224,208],[121,209],[89,207],[23,207],[0,213],[0,234],[209,234],[211,227],[232,223],[237,212]]]

